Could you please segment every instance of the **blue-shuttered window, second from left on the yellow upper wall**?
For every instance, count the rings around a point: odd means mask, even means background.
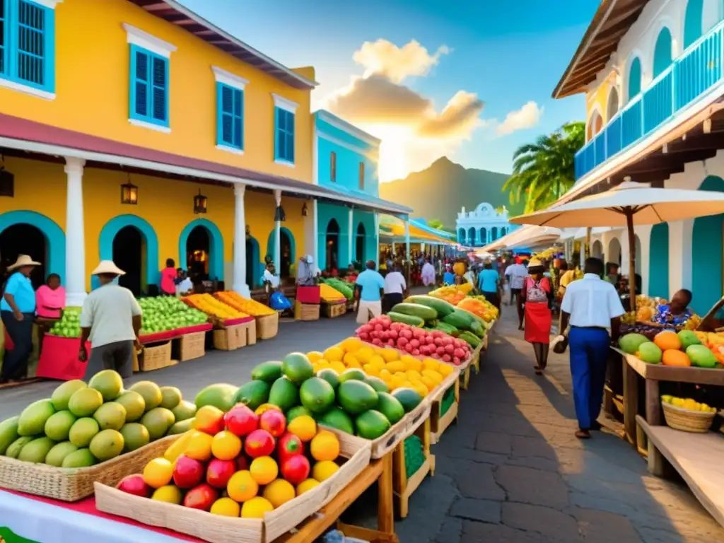
[[[169,125],[169,59],[131,46],[130,118]]]

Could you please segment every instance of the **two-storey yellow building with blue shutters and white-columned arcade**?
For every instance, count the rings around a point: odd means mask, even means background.
[[[248,293],[266,254],[316,255],[317,199],[370,209],[316,183],[313,68],[173,0],[5,0],[0,21],[0,258],[42,261],[69,305],[111,258],[135,292],[172,258]]]

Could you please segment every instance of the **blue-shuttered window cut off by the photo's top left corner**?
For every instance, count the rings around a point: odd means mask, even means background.
[[[54,1],[0,0],[0,85],[54,98]]]

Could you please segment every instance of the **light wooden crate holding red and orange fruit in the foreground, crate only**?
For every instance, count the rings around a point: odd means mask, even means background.
[[[331,431],[340,437],[340,456],[347,459],[339,471],[317,487],[266,513],[264,518],[211,515],[206,511],[127,494],[102,483],[96,484],[96,508],[211,543],[271,543],[315,515],[369,466],[369,442],[343,439],[346,434]],[[139,471],[128,471],[125,475]]]

